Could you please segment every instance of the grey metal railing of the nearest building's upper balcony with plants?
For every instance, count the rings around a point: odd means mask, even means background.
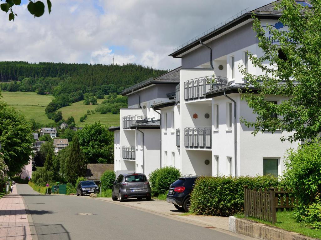
[[[185,101],[204,99],[204,93],[226,84],[228,79],[221,76],[205,76],[188,80],[184,83],[184,99]]]

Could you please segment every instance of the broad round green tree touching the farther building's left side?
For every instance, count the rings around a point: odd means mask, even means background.
[[[77,131],[83,153],[89,163],[111,163],[114,161],[114,134],[107,127],[95,122]]]

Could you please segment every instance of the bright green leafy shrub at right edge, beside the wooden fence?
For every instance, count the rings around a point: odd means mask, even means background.
[[[297,151],[290,149],[287,154],[283,181],[293,189],[298,201],[294,216],[298,221],[309,222],[308,207],[317,207],[320,203],[315,196],[321,193],[321,141],[312,140],[299,145]]]

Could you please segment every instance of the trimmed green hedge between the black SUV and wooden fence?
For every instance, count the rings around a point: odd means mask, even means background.
[[[200,177],[191,193],[191,210],[197,215],[232,216],[244,211],[244,185],[258,189],[278,184],[272,176]]]

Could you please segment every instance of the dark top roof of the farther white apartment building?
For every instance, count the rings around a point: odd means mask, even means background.
[[[138,84],[135,84],[129,88],[126,88],[123,90],[121,95],[126,96],[132,91],[137,91],[138,89],[141,89],[143,87],[152,85],[152,84],[179,84],[179,70],[181,67],[175,68],[174,70],[171,70],[167,73],[164,73],[163,75],[160,75],[158,77],[151,77],[147,80],[144,80],[143,82],[140,82]]]

